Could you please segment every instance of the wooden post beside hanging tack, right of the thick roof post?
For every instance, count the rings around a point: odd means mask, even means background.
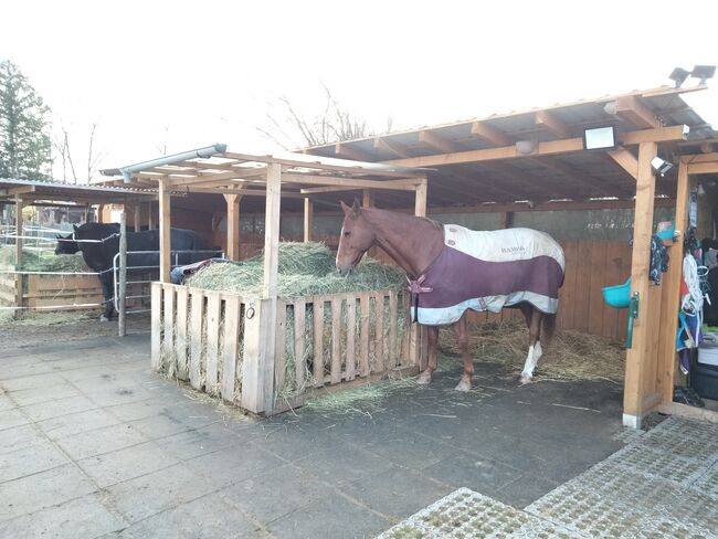
[[[688,163],[678,165],[678,183],[676,186],[675,230],[680,236],[669,250],[668,273],[663,282],[667,300],[661,306],[661,358],[658,359],[658,381],[664,403],[673,402],[673,387],[676,373],[676,332],[678,331],[678,308],[680,303],[680,275],[683,273],[683,240],[688,228]]]

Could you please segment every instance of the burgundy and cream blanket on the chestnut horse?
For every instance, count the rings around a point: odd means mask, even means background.
[[[410,281],[412,319],[442,326],[458,320],[466,309],[499,313],[521,302],[556,314],[564,267],[563,250],[543,232],[444,225],[444,249]]]

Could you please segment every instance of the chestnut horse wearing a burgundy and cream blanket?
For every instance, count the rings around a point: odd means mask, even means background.
[[[526,317],[529,348],[521,383],[534,376],[556,326],[558,289],[563,283],[561,246],[548,234],[529,229],[475,232],[355,201],[345,213],[337,270],[353,271],[372,245],[379,245],[406,272],[412,316],[429,330],[429,366],[420,374],[429,383],[436,370],[439,327],[453,325],[464,360],[456,387],[468,391],[474,364],[468,353],[466,309],[500,311],[517,307]]]

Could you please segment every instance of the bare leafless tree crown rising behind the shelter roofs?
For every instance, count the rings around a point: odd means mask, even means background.
[[[323,84],[321,87],[325,92],[324,109],[313,119],[307,119],[302,115],[289,98],[283,95],[278,102],[284,110],[284,118],[277,119],[275,115],[268,113],[266,118],[270,127],[257,127],[257,130],[287,150],[300,146],[321,146],[352,140],[373,134],[367,125],[367,120],[358,118],[344,108],[326,85]],[[388,127],[391,127],[391,118],[389,118]]]

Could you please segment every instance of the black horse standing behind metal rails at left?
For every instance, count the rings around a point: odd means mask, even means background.
[[[85,264],[94,272],[103,288],[105,298],[105,313],[101,320],[109,320],[113,317],[113,258],[119,252],[119,225],[117,223],[85,223],[81,226],[73,225],[75,231],[67,235],[57,235],[55,254],[74,254],[82,252]],[[172,251],[198,251],[205,250],[200,237],[191,230],[171,230]],[[127,251],[159,251],[159,230],[147,230],[142,232],[127,232]],[[207,255],[205,255],[207,256]],[[159,256],[157,254],[128,256],[128,265],[131,266],[156,266]],[[182,263],[196,262],[188,261]]]

